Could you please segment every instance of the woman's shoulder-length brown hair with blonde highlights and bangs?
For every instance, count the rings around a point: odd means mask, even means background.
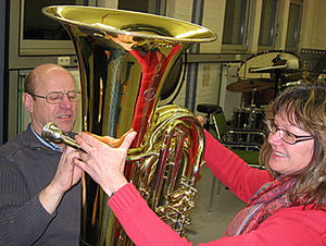
[[[288,88],[266,109],[265,120],[274,120],[276,114],[314,137],[310,163],[290,175],[296,180],[289,193],[290,200],[294,205],[313,205],[323,209],[326,204],[326,83],[316,81]],[[268,165],[271,152],[272,146],[265,142],[260,159],[277,177],[279,173]]]

